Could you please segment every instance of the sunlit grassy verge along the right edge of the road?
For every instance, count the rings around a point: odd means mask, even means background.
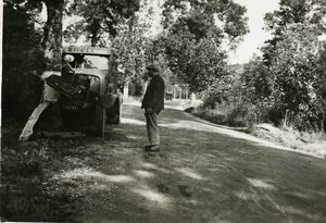
[[[246,111],[246,109],[249,109]],[[196,116],[215,124],[231,127],[247,127],[250,134],[281,145],[290,150],[326,159],[326,134],[323,132],[299,132],[290,125],[275,127],[271,124],[256,124],[252,108],[221,107],[211,109],[188,109]]]

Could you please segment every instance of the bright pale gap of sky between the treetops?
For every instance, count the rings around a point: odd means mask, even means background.
[[[258,49],[264,45],[271,35],[263,30],[264,15],[267,12],[278,10],[279,0],[234,0],[236,3],[247,8],[248,26],[250,33],[243,37],[243,41],[239,45],[235,52],[229,52],[229,62],[247,63],[252,55],[261,54]]]

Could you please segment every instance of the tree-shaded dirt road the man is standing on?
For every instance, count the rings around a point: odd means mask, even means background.
[[[77,200],[73,220],[326,222],[325,160],[172,109],[160,114],[162,152],[148,156],[142,111],[123,110],[104,138],[67,140],[52,163],[49,185]]]

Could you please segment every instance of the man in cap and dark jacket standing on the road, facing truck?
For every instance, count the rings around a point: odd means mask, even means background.
[[[159,74],[159,67],[151,64],[147,67],[148,76],[151,80],[146,89],[141,109],[145,109],[147,133],[149,145],[145,147],[145,151],[160,151],[160,135],[158,126],[158,115],[164,109],[164,90],[165,84]]]

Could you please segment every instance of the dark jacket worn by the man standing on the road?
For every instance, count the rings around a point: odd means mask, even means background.
[[[165,84],[163,78],[158,74],[150,80],[145,92],[141,109],[152,108],[153,110],[164,109]]]

